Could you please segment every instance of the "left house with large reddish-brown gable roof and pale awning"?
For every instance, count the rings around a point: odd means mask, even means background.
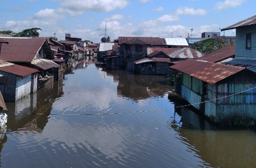
[[[8,44],[2,45],[0,60],[35,68],[38,70],[40,78],[37,87],[41,88],[54,81],[54,69],[59,67],[53,62],[54,56],[43,37],[6,37],[0,38]]]

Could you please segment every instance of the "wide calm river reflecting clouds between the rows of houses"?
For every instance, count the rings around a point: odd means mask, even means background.
[[[255,167],[256,133],[219,129],[169,97],[164,76],[76,66],[7,103],[1,167]]]

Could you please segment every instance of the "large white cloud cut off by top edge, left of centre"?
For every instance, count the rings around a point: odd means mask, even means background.
[[[110,12],[115,9],[122,9],[129,5],[127,0],[64,0],[61,2],[60,9],[71,15],[83,14],[87,11]]]

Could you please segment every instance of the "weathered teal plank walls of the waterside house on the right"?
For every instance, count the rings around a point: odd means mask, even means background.
[[[243,71],[213,85],[206,83],[206,92],[203,95],[203,81],[183,73],[181,97],[217,123],[227,118],[256,118],[254,87],[254,73]],[[204,97],[206,102],[201,103]]]

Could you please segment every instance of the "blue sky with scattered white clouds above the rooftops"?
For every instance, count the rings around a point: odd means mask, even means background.
[[[255,15],[254,0],[0,0],[0,31],[38,27],[100,43],[109,36],[201,37]],[[235,36],[235,29],[221,35]],[[54,35],[55,34],[55,35]]]

